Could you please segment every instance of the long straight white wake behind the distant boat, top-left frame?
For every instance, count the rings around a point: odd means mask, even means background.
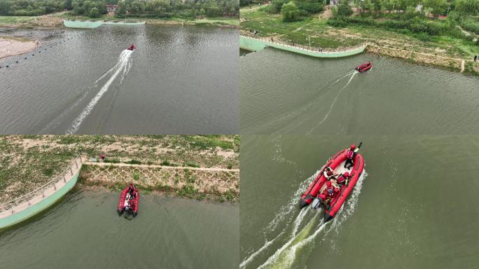
[[[130,60],[130,57],[131,57],[132,53],[133,53],[133,50],[123,50],[123,52],[120,54],[120,58],[118,59],[118,62],[113,67],[111,67],[111,69],[106,71],[105,74],[100,76],[97,79],[97,81],[95,81],[95,85],[96,85],[103,78],[105,78],[106,76],[111,74],[110,78],[108,79],[108,81],[106,81],[106,83],[104,83],[104,85],[99,90],[97,95],[95,95],[95,97],[93,97],[93,99],[90,100],[88,105],[85,106],[85,109],[83,109],[83,111],[81,111],[80,115],[78,115],[78,117],[75,118],[73,123],[71,123],[71,127],[69,127],[69,129],[66,132],[67,135],[72,135],[72,134],[74,134],[78,131],[78,129],[80,128],[81,123],[83,123],[83,120],[85,120],[85,118],[95,108],[99,99],[102,98],[102,96],[105,94],[105,92],[109,90],[113,81],[115,81],[116,78],[118,77],[118,75],[120,75],[120,74],[121,74],[120,84],[123,83],[123,78],[125,78],[125,76],[128,74],[128,71],[130,71],[130,67],[132,66],[132,63],[131,63],[131,60]]]

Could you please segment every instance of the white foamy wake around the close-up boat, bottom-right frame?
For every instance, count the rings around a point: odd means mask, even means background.
[[[315,173],[312,177],[305,180],[305,182],[309,183],[317,176],[318,173],[319,171]],[[333,221],[324,223],[322,209],[315,210],[312,209],[312,207],[304,208],[294,219],[292,223],[292,228],[291,226],[287,226],[272,240],[265,240],[265,244],[263,244],[262,247],[260,247],[257,251],[254,251],[254,253],[249,254],[247,258],[244,258],[242,263],[240,263],[240,268],[247,268],[247,265],[251,263],[251,261],[254,261],[258,254],[265,252],[265,250],[269,249],[270,246],[278,246],[278,243],[274,244],[274,242],[279,240],[282,240],[284,243],[279,243],[279,247],[277,247],[277,250],[272,255],[268,256],[268,259],[264,263],[259,265],[258,269],[292,268],[293,263],[298,262],[298,256],[303,257],[303,261],[305,261],[304,258],[307,258],[307,256],[312,251],[312,248],[314,247],[314,244],[316,242],[314,239],[318,237],[319,234],[322,233],[324,235],[322,237],[322,241],[324,241],[326,240],[326,235],[328,235],[329,233],[340,233],[340,227],[342,223],[354,213],[354,209],[356,208],[357,202],[359,200],[359,194],[361,193],[361,188],[363,186],[363,180],[366,177],[367,173],[366,170],[364,170],[363,174],[361,174],[361,177],[359,177],[358,181],[356,182],[356,186],[354,186],[351,195],[349,195],[347,202],[345,202],[345,205],[343,205],[342,208],[339,210],[337,216],[335,217],[335,219],[333,219]],[[303,187],[303,185],[306,184],[302,183],[300,185],[301,186],[300,188],[298,188],[298,191],[296,191],[296,193],[302,193],[305,190],[305,187]],[[294,197],[296,204],[298,202],[298,197],[298,195]],[[289,206],[286,206],[286,208],[289,208]],[[281,218],[277,215],[275,217],[275,220],[273,220],[271,223],[276,223],[277,219],[284,219],[284,217]],[[271,223],[268,227],[271,226]],[[291,230],[291,232],[287,233],[287,230]],[[264,234],[266,237],[267,234]],[[333,244],[335,243],[331,241],[331,237],[328,237],[328,242],[331,242]],[[305,249],[305,247],[307,248]],[[304,249],[305,251],[302,251],[302,249]],[[302,268],[302,266],[297,265],[295,265],[294,267]]]

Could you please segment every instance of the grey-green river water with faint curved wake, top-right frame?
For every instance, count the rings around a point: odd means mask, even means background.
[[[373,69],[354,72],[370,60]],[[321,60],[273,48],[240,57],[244,134],[479,133],[479,78],[361,54]]]

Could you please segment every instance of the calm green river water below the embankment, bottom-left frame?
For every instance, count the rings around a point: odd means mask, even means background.
[[[144,195],[118,216],[118,193],[76,191],[0,232],[2,268],[235,268],[237,204]]]

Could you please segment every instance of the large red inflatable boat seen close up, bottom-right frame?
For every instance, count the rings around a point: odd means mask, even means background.
[[[356,185],[356,181],[358,181],[359,177],[361,176],[364,168],[364,159],[360,153],[356,153],[353,160],[353,167],[350,170],[344,168],[345,161],[346,161],[347,149],[344,149],[333,156],[331,160],[324,166],[321,172],[318,174],[316,179],[312,181],[310,186],[307,188],[305,193],[301,196],[300,199],[300,208],[306,207],[310,205],[311,202],[317,198],[318,194],[324,191],[326,188],[326,177],[324,177],[324,169],[326,167],[331,167],[338,174],[342,174],[344,172],[349,172],[349,180],[347,181],[346,185],[343,185],[340,188],[340,191],[333,196],[328,205],[326,205],[326,211],[324,213],[324,222],[331,221],[338,210],[341,208],[342,204],[345,202],[346,198],[351,193],[352,189]]]

